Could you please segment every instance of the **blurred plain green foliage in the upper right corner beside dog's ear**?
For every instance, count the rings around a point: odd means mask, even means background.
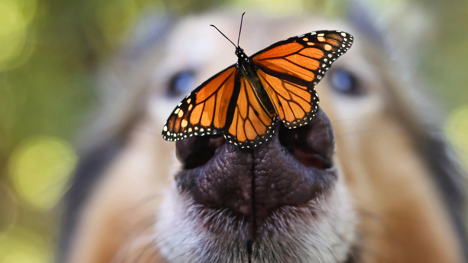
[[[418,2],[430,7],[437,20],[431,28],[431,42],[423,47],[420,70],[433,94],[451,110],[468,103],[468,32],[464,30],[468,25],[468,1]]]

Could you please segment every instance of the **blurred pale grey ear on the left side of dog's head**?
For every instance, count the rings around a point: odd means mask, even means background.
[[[99,101],[97,118],[80,134],[80,151],[89,151],[102,141],[124,137],[132,129],[133,121],[146,106],[148,76],[151,66],[164,50],[170,28],[176,20],[170,15],[148,12],[135,24],[126,41],[112,58],[99,65],[96,75],[96,94]]]

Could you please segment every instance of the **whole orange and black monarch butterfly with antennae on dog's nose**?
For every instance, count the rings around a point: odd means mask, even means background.
[[[237,63],[203,82],[177,105],[163,127],[164,139],[224,134],[230,143],[249,148],[271,138],[277,119],[290,129],[307,124],[319,103],[314,86],[353,42],[342,31],[314,31],[248,57],[239,46],[241,29],[237,46],[219,31],[235,46]]]

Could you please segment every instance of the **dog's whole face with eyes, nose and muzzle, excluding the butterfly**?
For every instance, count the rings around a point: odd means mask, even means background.
[[[149,79],[149,99],[81,205],[69,262],[461,262],[431,168],[399,117],[398,74],[344,23],[248,18],[242,28],[248,55],[313,30],[354,35],[316,86],[310,124],[278,123],[252,149],[222,136],[164,141],[174,106],[235,62],[211,23],[238,33],[231,16],[187,18],[142,59],[135,76]]]

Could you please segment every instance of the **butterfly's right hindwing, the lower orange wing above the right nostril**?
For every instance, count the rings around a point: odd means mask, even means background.
[[[319,98],[314,88],[307,88],[257,71],[278,118],[288,128],[307,124],[315,116]]]

